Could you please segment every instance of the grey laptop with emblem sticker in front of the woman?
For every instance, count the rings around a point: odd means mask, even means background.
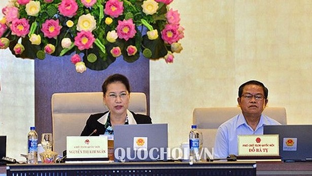
[[[114,161],[166,161],[167,124],[114,126]]]

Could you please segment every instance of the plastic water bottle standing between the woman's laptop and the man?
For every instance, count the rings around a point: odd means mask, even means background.
[[[192,130],[189,134],[190,140],[190,162],[198,162],[200,161],[200,136],[199,132],[197,131],[197,126],[192,125]]]

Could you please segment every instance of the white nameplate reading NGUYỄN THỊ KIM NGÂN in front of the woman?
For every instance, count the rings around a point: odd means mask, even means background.
[[[107,136],[67,136],[67,158],[108,158]]]

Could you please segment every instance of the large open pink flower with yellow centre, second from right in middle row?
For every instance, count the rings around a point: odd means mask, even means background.
[[[135,36],[135,33],[135,25],[133,24],[131,18],[123,21],[118,20],[117,34],[119,39],[128,41],[130,38]]]

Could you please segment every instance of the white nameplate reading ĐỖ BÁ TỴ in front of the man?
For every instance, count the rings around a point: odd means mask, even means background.
[[[238,135],[238,156],[279,156],[279,135]]]

